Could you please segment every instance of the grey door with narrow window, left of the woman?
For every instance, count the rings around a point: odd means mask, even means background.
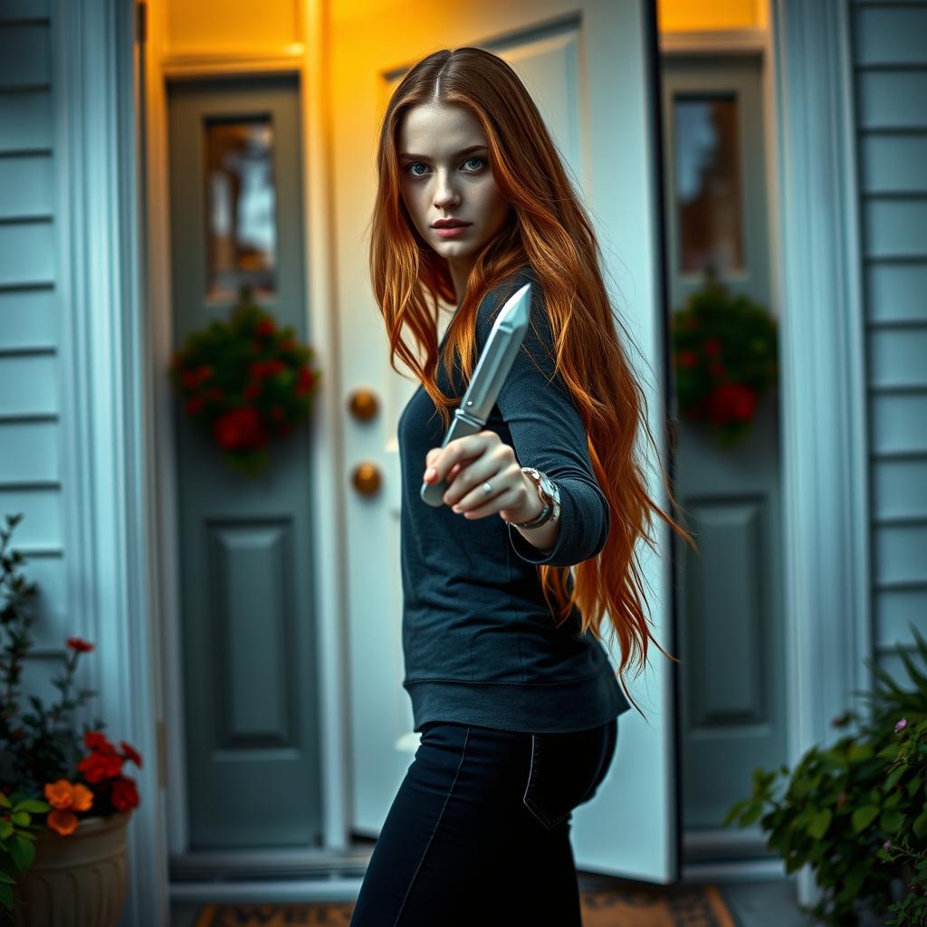
[[[248,284],[311,341],[295,78],[169,94],[174,346]],[[322,843],[308,431],[257,479],[176,408],[189,848]]]

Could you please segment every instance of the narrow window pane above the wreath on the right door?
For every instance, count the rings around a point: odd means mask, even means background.
[[[673,101],[680,273],[743,271],[743,194],[737,100]]]

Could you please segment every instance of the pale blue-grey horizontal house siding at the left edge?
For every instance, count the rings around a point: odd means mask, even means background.
[[[11,546],[40,588],[24,688],[46,698],[67,633],[52,25],[47,0],[0,7],[0,519],[24,516]]]

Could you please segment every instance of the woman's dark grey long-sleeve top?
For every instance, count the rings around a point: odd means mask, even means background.
[[[535,466],[557,483],[560,532],[542,552],[498,513],[471,520],[448,505],[422,502],[425,454],[444,436],[440,415],[419,386],[399,420],[402,685],[412,698],[414,730],[430,720],[539,733],[582,730],[629,709],[602,642],[579,634],[576,608],[555,629],[540,589],[537,565],[575,565],[603,549],[609,509],[582,418],[560,375],[548,382],[555,369],[552,335],[530,266],[481,302],[477,350],[505,300],[527,282],[530,324],[486,427],[514,448],[520,465]],[[452,374],[451,384],[438,362],[438,385],[461,397],[465,384],[456,365]]]

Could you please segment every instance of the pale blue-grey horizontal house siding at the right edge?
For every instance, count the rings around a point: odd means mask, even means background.
[[[869,394],[872,641],[927,635],[927,2],[851,2]]]

